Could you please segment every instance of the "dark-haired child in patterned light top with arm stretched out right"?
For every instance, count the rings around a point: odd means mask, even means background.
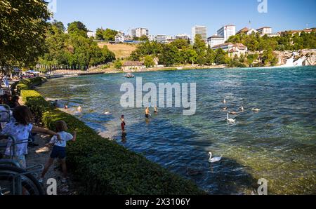
[[[13,110],[13,117],[15,122],[6,124],[2,135],[11,136],[15,138],[16,144],[13,146],[12,141],[8,141],[6,147],[6,156],[13,156],[13,160],[18,161],[21,168],[27,168],[25,155],[27,155],[27,140],[29,139],[29,133],[43,133],[47,135],[54,135],[59,140],[60,135],[53,132],[52,130],[47,130],[44,128],[39,128],[32,125],[33,115],[32,112],[26,106],[15,107]],[[0,137],[6,138],[6,137]],[[15,147],[15,153],[13,153],[12,147]]]

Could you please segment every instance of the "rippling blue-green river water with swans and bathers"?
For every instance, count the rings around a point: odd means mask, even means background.
[[[54,79],[39,87],[46,98],[69,102],[75,114],[100,135],[143,154],[210,194],[251,194],[258,179],[269,194],[315,194],[316,67],[210,69],[137,73],[143,83],[197,83],[197,112],[159,109],[145,121],[144,109],[123,109],[123,74]],[[228,124],[223,99],[237,112]],[[77,113],[78,105],[83,107]],[[252,112],[251,108],[261,108]],[[112,115],[105,115],[111,112]],[[153,112],[153,111],[152,111]],[[126,141],[120,116],[126,117]],[[223,155],[209,163],[208,153]]]

